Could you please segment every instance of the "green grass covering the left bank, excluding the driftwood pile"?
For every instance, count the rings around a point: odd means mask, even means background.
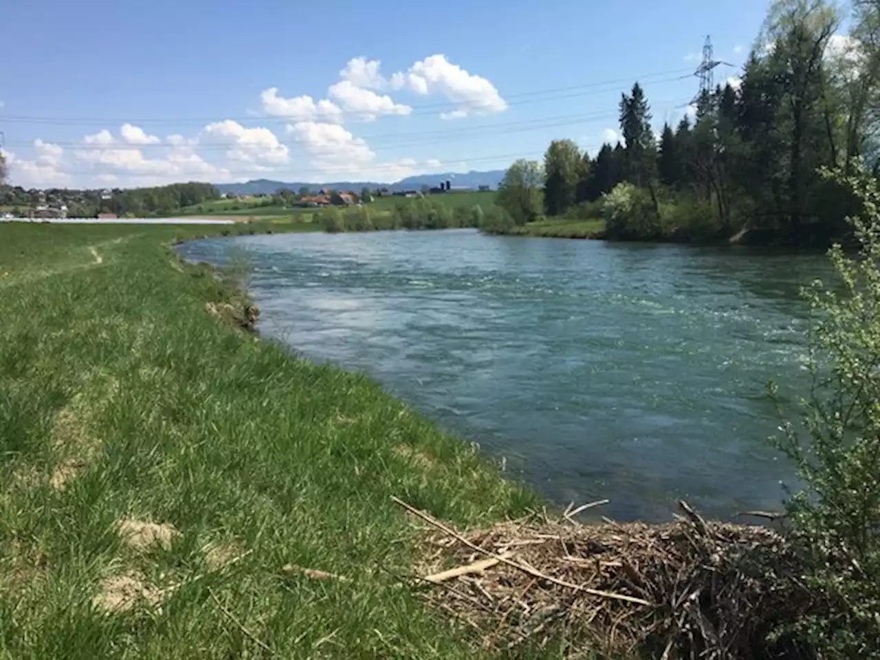
[[[231,275],[167,244],[238,230],[0,225],[0,656],[479,656],[400,586],[421,532],[391,497],[470,526],[533,495],[218,319]]]

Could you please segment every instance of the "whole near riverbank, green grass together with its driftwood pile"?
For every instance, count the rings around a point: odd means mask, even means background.
[[[370,379],[242,332],[235,274],[169,249],[203,232],[3,230],[5,653],[760,656],[822,605],[773,532],[551,516]]]

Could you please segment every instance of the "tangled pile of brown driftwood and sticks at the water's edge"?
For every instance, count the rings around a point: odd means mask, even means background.
[[[797,657],[780,625],[810,609],[785,539],[707,522],[685,502],[669,524],[577,524],[535,515],[459,533],[429,524],[416,568],[429,602],[484,649],[554,656]],[[601,502],[597,502],[601,503]]]

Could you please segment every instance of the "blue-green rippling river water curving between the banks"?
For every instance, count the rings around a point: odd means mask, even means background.
[[[246,253],[262,334],[367,372],[561,505],[656,521],[684,498],[731,518],[791,482],[766,383],[808,383],[798,290],[830,272],[822,254],[469,230],[180,249]]]

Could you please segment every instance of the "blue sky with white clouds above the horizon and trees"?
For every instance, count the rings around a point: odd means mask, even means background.
[[[29,0],[4,6],[11,183],[394,181],[618,139],[638,80],[656,128],[736,77],[766,0]]]

